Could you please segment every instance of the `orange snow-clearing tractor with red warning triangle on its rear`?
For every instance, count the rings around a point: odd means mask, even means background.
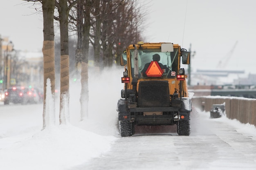
[[[129,45],[121,54],[124,89],[117,104],[122,137],[132,136],[134,126],[177,124],[179,135],[190,134],[191,100],[181,64],[190,53],[172,43]]]

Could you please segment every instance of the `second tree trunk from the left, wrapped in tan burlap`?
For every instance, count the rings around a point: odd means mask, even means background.
[[[59,0],[61,32],[61,89],[60,89],[60,124],[69,122],[69,49],[68,49],[68,13],[67,0]]]

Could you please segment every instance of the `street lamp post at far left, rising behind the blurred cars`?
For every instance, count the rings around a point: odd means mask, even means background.
[[[11,45],[11,49],[9,49],[9,45]],[[13,50],[13,44],[9,41],[6,45],[6,56],[5,56],[5,68],[4,68],[4,89],[9,88],[10,86],[10,65],[11,61],[8,59],[9,51]]]

